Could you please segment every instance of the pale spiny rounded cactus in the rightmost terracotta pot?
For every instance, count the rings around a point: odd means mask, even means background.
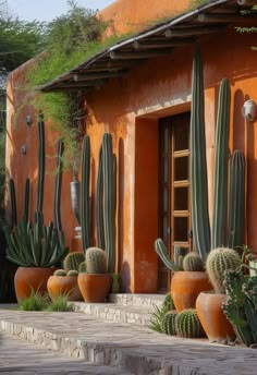
[[[241,258],[235,250],[229,247],[211,250],[206,261],[206,270],[216,293],[225,293],[225,271],[228,269],[236,269],[240,266]]]

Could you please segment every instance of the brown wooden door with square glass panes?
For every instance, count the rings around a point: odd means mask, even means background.
[[[189,120],[184,112],[159,122],[159,237],[172,259],[174,246],[191,247]],[[159,291],[168,291],[170,281],[159,259]]]

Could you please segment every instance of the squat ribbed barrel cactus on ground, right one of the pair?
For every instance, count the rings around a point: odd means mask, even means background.
[[[185,338],[205,337],[204,328],[195,309],[183,310],[175,318],[176,334]]]

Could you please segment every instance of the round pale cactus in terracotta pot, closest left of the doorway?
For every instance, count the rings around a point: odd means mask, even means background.
[[[99,247],[89,247],[85,259],[77,277],[81,293],[85,302],[105,302],[112,282],[112,275],[107,273],[107,253]]]

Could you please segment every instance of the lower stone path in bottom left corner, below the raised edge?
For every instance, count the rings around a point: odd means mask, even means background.
[[[121,368],[75,360],[5,334],[0,336],[0,374],[132,375]]]

